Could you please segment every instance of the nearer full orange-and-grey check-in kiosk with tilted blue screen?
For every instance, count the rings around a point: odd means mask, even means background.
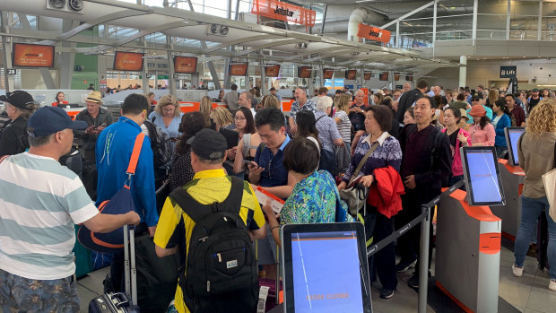
[[[465,187],[439,202],[437,286],[466,312],[498,312],[501,220],[489,205],[504,204],[494,147],[463,147]]]

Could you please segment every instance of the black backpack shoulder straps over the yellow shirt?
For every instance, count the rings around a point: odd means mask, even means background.
[[[187,213],[195,224],[212,213],[230,212],[239,215],[244,182],[243,179],[233,176],[230,176],[230,181],[230,194],[228,194],[228,197],[221,203],[199,204],[193,196],[189,195],[187,189],[184,188],[176,188],[169,196],[178,203],[179,207]]]

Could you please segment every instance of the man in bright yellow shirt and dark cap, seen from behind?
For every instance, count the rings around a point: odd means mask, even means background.
[[[236,185],[234,185],[232,183],[234,180],[230,178],[230,176],[227,176],[226,172],[222,168],[222,162],[226,159],[226,148],[226,139],[221,134],[211,129],[204,129],[197,133],[193,138],[193,141],[191,143],[191,165],[193,166],[193,170],[195,171],[195,177],[191,182],[187,183],[187,185],[182,188],[183,190],[185,190],[185,193],[187,193],[187,196],[193,198],[195,202],[200,204],[195,205],[195,210],[202,210],[199,208],[203,207],[204,210],[207,210],[206,212],[210,212],[208,211],[211,207],[210,204],[212,204],[212,206],[214,206],[214,203],[226,204],[229,202],[229,197],[238,198],[239,200],[238,195],[234,194],[233,189],[234,186],[237,186],[238,183],[236,182]],[[243,188],[239,207],[239,221],[245,223],[245,225],[243,226],[246,227],[251,240],[264,239],[266,232],[265,227],[263,227],[265,225],[265,217],[260,205],[258,204],[255,192],[247,182],[243,181],[242,185]],[[184,192],[181,192],[181,194],[183,195]],[[175,198],[172,197],[172,195],[175,195]],[[196,216],[192,218],[190,216],[191,214],[186,213],[186,211],[191,210],[191,208],[186,208],[184,210],[182,207],[180,207],[178,201],[176,200],[178,198],[178,194],[174,192],[172,193],[172,195],[170,195],[166,199],[164,207],[162,208],[161,218],[159,220],[156,233],[154,235],[154,243],[156,245],[156,253],[158,256],[161,257],[169,256],[179,251],[182,256],[185,256],[182,259],[186,262],[185,268],[187,270],[190,263],[190,260],[187,259],[188,253],[190,252],[189,249],[191,247],[195,247],[195,256],[201,249],[199,248],[200,244],[198,242],[194,242],[195,240],[191,241],[192,235],[195,235],[195,221],[204,221],[205,219],[208,219],[208,217],[206,216],[210,216],[211,213],[198,213],[198,211],[196,211],[194,213],[194,215]],[[204,207],[203,204],[209,205]],[[221,211],[218,212],[220,213]],[[205,216],[199,219],[199,217],[202,215]],[[208,238],[211,235],[212,234],[207,234],[205,239],[209,241],[210,239]],[[227,251],[222,250],[222,257],[225,257],[226,252]],[[221,258],[221,253],[216,253],[214,255],[218,256],[219,259]],[[192,256],[192,258],[193,257],[194,256]],[[256,265],[256,259],[253,250],[250,250],[250,252],[248,251],[246,257],[252,258],[247,260],[245,262],[246,264]],[[236,263],[234,264],[231,261],[228,262],[228,270],[237,266],[237,260],[233,261],[236,261]],[[192,259],[191,262],[195,261],[193,261]],[[239,263],[241,263],[241,261],[239,261]],[[217,266],[209,265],[207,266],[207,268],[208,267]],[[180,274],[180,279],[184,279],[185,277],[187,277],[187,279],[185,279],[185,282],[178,283],[178,288],[176,290],[175,307],[180,313],[188,313],[203,308],[203,306],[199,307],[198,299],[191,299],[191,295],[188,295],[187,292],[183,292],[181,288],[181,286],[185,286],[187,283],[192,283],[192,281],[187,282],[187,280],[192,280],[194,274],[195,277],[197,276],[196,270],[197,268],[195,268],[195,273],[191,273],[189,276],[187,276],[187,273],[183,275]],[[208,268],[208,271],[211,270],[213,270],[213,268]],[[226,271],[226,269],[224,269],[223,271]],[[233,282],[236,283],[235,280]],[[197,282],[195,281],[195,283]],[[208,291],[211,291],[211,282],[207,281],[206,284],[204,282],[200,283],[203,283],[203,286],[200,287],[205,288],[207,291],[206,293],[208,294]],[[192,290],[196,290],[196,288],[198,287],[199,286],[193,286]],[[231,288],[233,289],[233,287]],[[215,297],[215,299],[211,302],[224,302],[223,305],[216,307],[225,308],[226,312],[233,312],[234,306],[238,306],[240,305],[240,303],[245,303],[246,301],[245,297],[243,297],[244,299],[241,299],[242,297],[239,295],[243,295],[244,293],[249,292],[249,290],[241,290],[235,293],[231,292],[233,294],[232,296],[219,295],[218,297]],[[228,294],[230,294],[230,292],[228,292]],[[246,296],[247,298],[250,297],[250,295]],[[184,298],[186,299],[184,300]],[[206,302],[206,298],[204,299],[204,301]],[[234,301],[239,303],[233,303]],[[243,311],[245,311],[245,306],[242,309]],[[214,310],[211,309],[211,311]]]

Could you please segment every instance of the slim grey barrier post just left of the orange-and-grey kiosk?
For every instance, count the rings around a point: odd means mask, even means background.
[[[421,256],[419,264],[419,313],[427,311],[427,296],[429,291],[429,238],[430,238],[430,206],[423,205],[425,218],[421,221]]]

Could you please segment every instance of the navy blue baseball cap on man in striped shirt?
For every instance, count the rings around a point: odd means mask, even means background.
[[[85,129],[87,126],[85,121],[73,121],[62,108],[43,107],[30,116],[27,134],[32,137],[42,137],[66,128]]]

